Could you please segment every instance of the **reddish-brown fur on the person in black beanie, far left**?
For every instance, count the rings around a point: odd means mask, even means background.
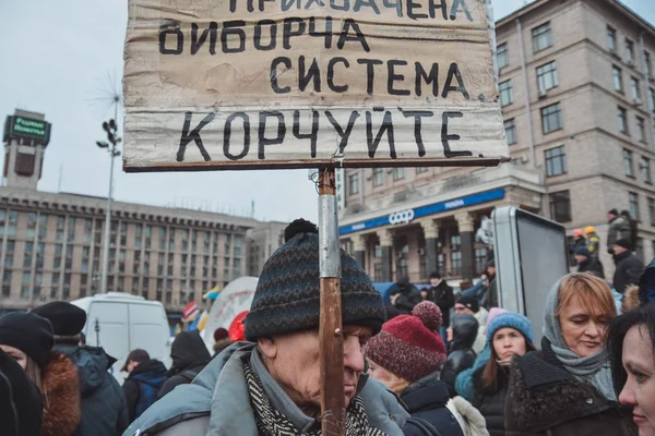
[[[41,373],[41,436],[71,436],[80,424],[80,378],[74,363],[52,351]]]

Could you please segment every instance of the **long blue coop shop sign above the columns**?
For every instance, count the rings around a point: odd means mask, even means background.
[[[338,228],[338,234],[348,234],[361,230],[374,229],[377,227],[389,226],[391,223],[408,223],[416,218],[428,217],[448,210],[460,209],[462,207],[475,206],[483,203],[489,203],[504,198],[504,189],[499,187],[492,191],[480,192],[467,195],[461,198],[449,199],[448,202],[434,203],[427,206],[417,207],[385,215],[383,217],[369,219],[368,221],[356,222],[354,225]]]

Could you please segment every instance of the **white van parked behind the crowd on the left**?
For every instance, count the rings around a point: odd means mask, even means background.
[[[86,335],[86,343],[102,347],[107,354],[118,359],[111,373],[119,383],[127,376],[120,370],[128,354],[138,348],[170,367],[171,340],[166,311],[160,302],[123,292],[108,292],[71,303],[86,312],[86,325],[82,330]]]

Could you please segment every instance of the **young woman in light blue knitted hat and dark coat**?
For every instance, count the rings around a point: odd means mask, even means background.
[[[535,351],[533,331],[523,315],[507,312],[487,326],[488,362],[473,372],[473,405],[485,421],[490,436],[504,436],[504,404],[509,387],[509,365],[514,355]]]

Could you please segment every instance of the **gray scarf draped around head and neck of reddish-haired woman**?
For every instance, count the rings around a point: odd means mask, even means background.
[[[562,337],[560,322],[555,315],[562,280],[563,278],[550,289],[546,300],[544,336],[550,341],[552,351],[569,374],[574,375],[580,380],[591,383],[608,400],[617,401],[611,379],[611,368],[605,350],[587,358],[581,358],[569,349]]]

